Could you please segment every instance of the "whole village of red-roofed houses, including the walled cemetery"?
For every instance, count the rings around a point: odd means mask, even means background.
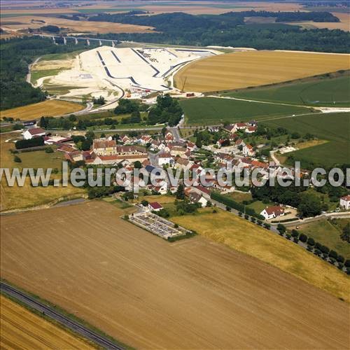
[[[95,137],[90,149],[81,151],[77,143],[80,137],[60,136],[59,134],[48,133],[41,127],[37,127],[33,123],[28,123],[26,130],[22,133],[23,139],[30,140],[42,137],[46,146],[55,146],[57,152],[64,154],[65,160],[75,167],[116,167],[123,168],[130,175],[133,173],[134,167],[145,169],[148,174],[153,170],[172,169],[176,172],[177,169],[190,174],[203,174],[204,168],[208,165],[208,159],[212,160],[211,168],[225,169],[230,163],[232,171],[238,170],[242,172],[244,169],[248,172],[253,172],[254,169],[260,169],[260,176],[269,178],[269,174],[274,174],[276,178],[282,177],[293,179],[294,169],[290,168],[292,176],[286,175],[283,172],[279,161],[274,157],[272,151],[272,161],[269,158],[261,156],[257,158],[255,152],[259,147],[251,146],[246,137],[254,134],[257,130],[258,123],[251,120],[247,123],[235,123],[220,127],[207,127],[207,131],[211,134],[220,134],[221,137],[215,144],[202,146],[195,142],[181,137],[178,127],[167,128],[163,127],[162,132],[155,134],[140,133],[137,136],[134,134],[115,134],[106,137],[102,134],[99,138]],[[77,142],[78,141],[78,142]],[[80,140],[81,141],[81,140]],[[288,148],[288,146],[286,146]],[[283,153],[283,148],[279,148],[279,152]],[[275,161],[274,161],[275,160]],[[154,173],[154,172],[153,172]],[[308,176],[304,171],[300,176]],[[210,185],[204,187],[200,181],[193,181],[192,186],[184,187],[183,194],[190,204],[196,204],[197,207],[218,206],[222,209],[231,210],[228,206],[223,206],[223,203],[218,200],[215,194],[226,195],[229,193],[242,192],[241,188],[232,186],[222,186],[216,179],[216,176],[205,174],[205,180]],[[144,183],[142,179],[134,179],[125,187],[125,193],[130,193],[129,198],[137,197],[134,193],[135,183],[142,188],[143,193],[152,195],[176,195],[178,187],[172,186],[169,179],[165,181],[159,179],[156,185],[151,181]],[[180,183],[182,183],[180,181]],[[120,193],[113,195],[120,196]],[[184,228],[176,227],[166,218],[162,218],[162,204],[159,202],[151,202],[137,204],[137,213],[132,214],[130,221],[136,225],[146,228],[147,230],[160,235],[165,239],[186,235]],[[339,199],[340,209],[350,208],[350,196],[344,196]],[[239,212],[239,215],[245,215],[244,212]],[[237,210],[238,211],[238,210]],[[295,208],[276,203],[266,206],[259,211],[258,218],[264,221],[265,228],[269,228],[271,223],[276,223],[276,220],[284,221],[296,218],[297,211]]]

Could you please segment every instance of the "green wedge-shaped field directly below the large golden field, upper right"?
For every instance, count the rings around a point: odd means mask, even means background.
[[[305,106],[347,107],[350,106],[350,76],[348,73],[337,78],[320,77],[303,83],[257,87],[224,95]]]

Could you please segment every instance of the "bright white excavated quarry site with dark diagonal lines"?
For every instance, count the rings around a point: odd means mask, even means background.
[[[32,70],[42,73],[33,83],[55,92],[58,98],[78,102],[102,96],[113,103],[121,97],[137,99],[152,92],[170,92],[174,90],[172,76],[182,66],[219,53],[211,49],[100,46],[64,61],[39,61]]]

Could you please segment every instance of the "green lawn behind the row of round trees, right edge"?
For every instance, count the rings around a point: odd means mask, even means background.
[[[337,219],[337,221],[343,223],[349,222],[350,219]],[[344,256],[344,258],[350,258],[350,244],[340,239],[342,231],[337,225],[332,225],[332,221],[319,220],[313,223],[306,223],[301,225],[299,232],[304,233],[308,237],[312,237],[315,241],[328,246],[328,248],[337,251],[337,253]]]

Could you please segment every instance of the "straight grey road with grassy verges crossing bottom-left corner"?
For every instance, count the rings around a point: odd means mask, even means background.
[[[0,286],[1,286],[1,292],[6,293],[7,295],[10,295],[16,300],[26,304],[28,307],[36,309],[42,314],[45,314],[45,316],[48,316],[54,319],[55,321],[57,321],[58,323],[60,323],[61,325],[64,325],[66,328],[73,330],[73,332],[76,332],[79,335],[82,335],[83,337],[91,340],[95,344],[102,346],[104,349],[117,349],[117,350],[124,349],[118,344],[111,342],[111,340],[107,339],[106,337],[103,337],[102,335],[97,334],[96,332],[90,330],[89,328],[86,328],[85,325],[82,325],[77,321],[71,320],[71,318],[65,316],[64,314],[61,314],[55,308],[49,307],[48,305],[45,305],[42,302],[39,302],[38,300],[34,299],[34,297],[31,297],[27,293],[24,293],[21,290],[18,290],[17,288],[14,288],[13,286],[8,285],[5,282],[1,282]]]

